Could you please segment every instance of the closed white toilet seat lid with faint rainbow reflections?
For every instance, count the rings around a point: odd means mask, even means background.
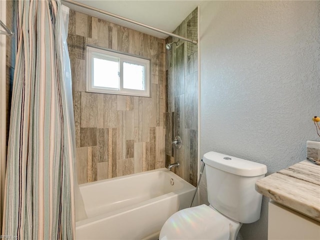
[[[163,224],[159,240],[219,239],[228,240],[229,221],[205,204],[175,212]]]

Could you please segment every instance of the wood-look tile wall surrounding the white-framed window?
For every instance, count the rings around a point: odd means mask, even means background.
[[[164,167],[164,40],[70,10],[67,43],[78,182]],[[86,92],[86,44],[149,58],[151,97]]]

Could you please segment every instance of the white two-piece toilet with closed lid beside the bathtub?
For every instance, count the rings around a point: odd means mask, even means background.
[[[203,155],[207,205],[182,209],[170,216],[159,239],[235,240],[242,223],[260,218],[262,195],[254,183],[266,166],[217,152]]]

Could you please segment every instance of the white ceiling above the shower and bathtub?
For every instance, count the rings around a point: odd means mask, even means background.
[[[167,32],[174,29],[194,10],[201,0],[74,0]],[[102,13],[63,2],[71,9],[126,26],[159,38],[168,35]]]

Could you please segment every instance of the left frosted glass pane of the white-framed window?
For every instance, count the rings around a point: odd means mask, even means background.
[[[119,89],[119,62],[93,57],[93,85]]]

